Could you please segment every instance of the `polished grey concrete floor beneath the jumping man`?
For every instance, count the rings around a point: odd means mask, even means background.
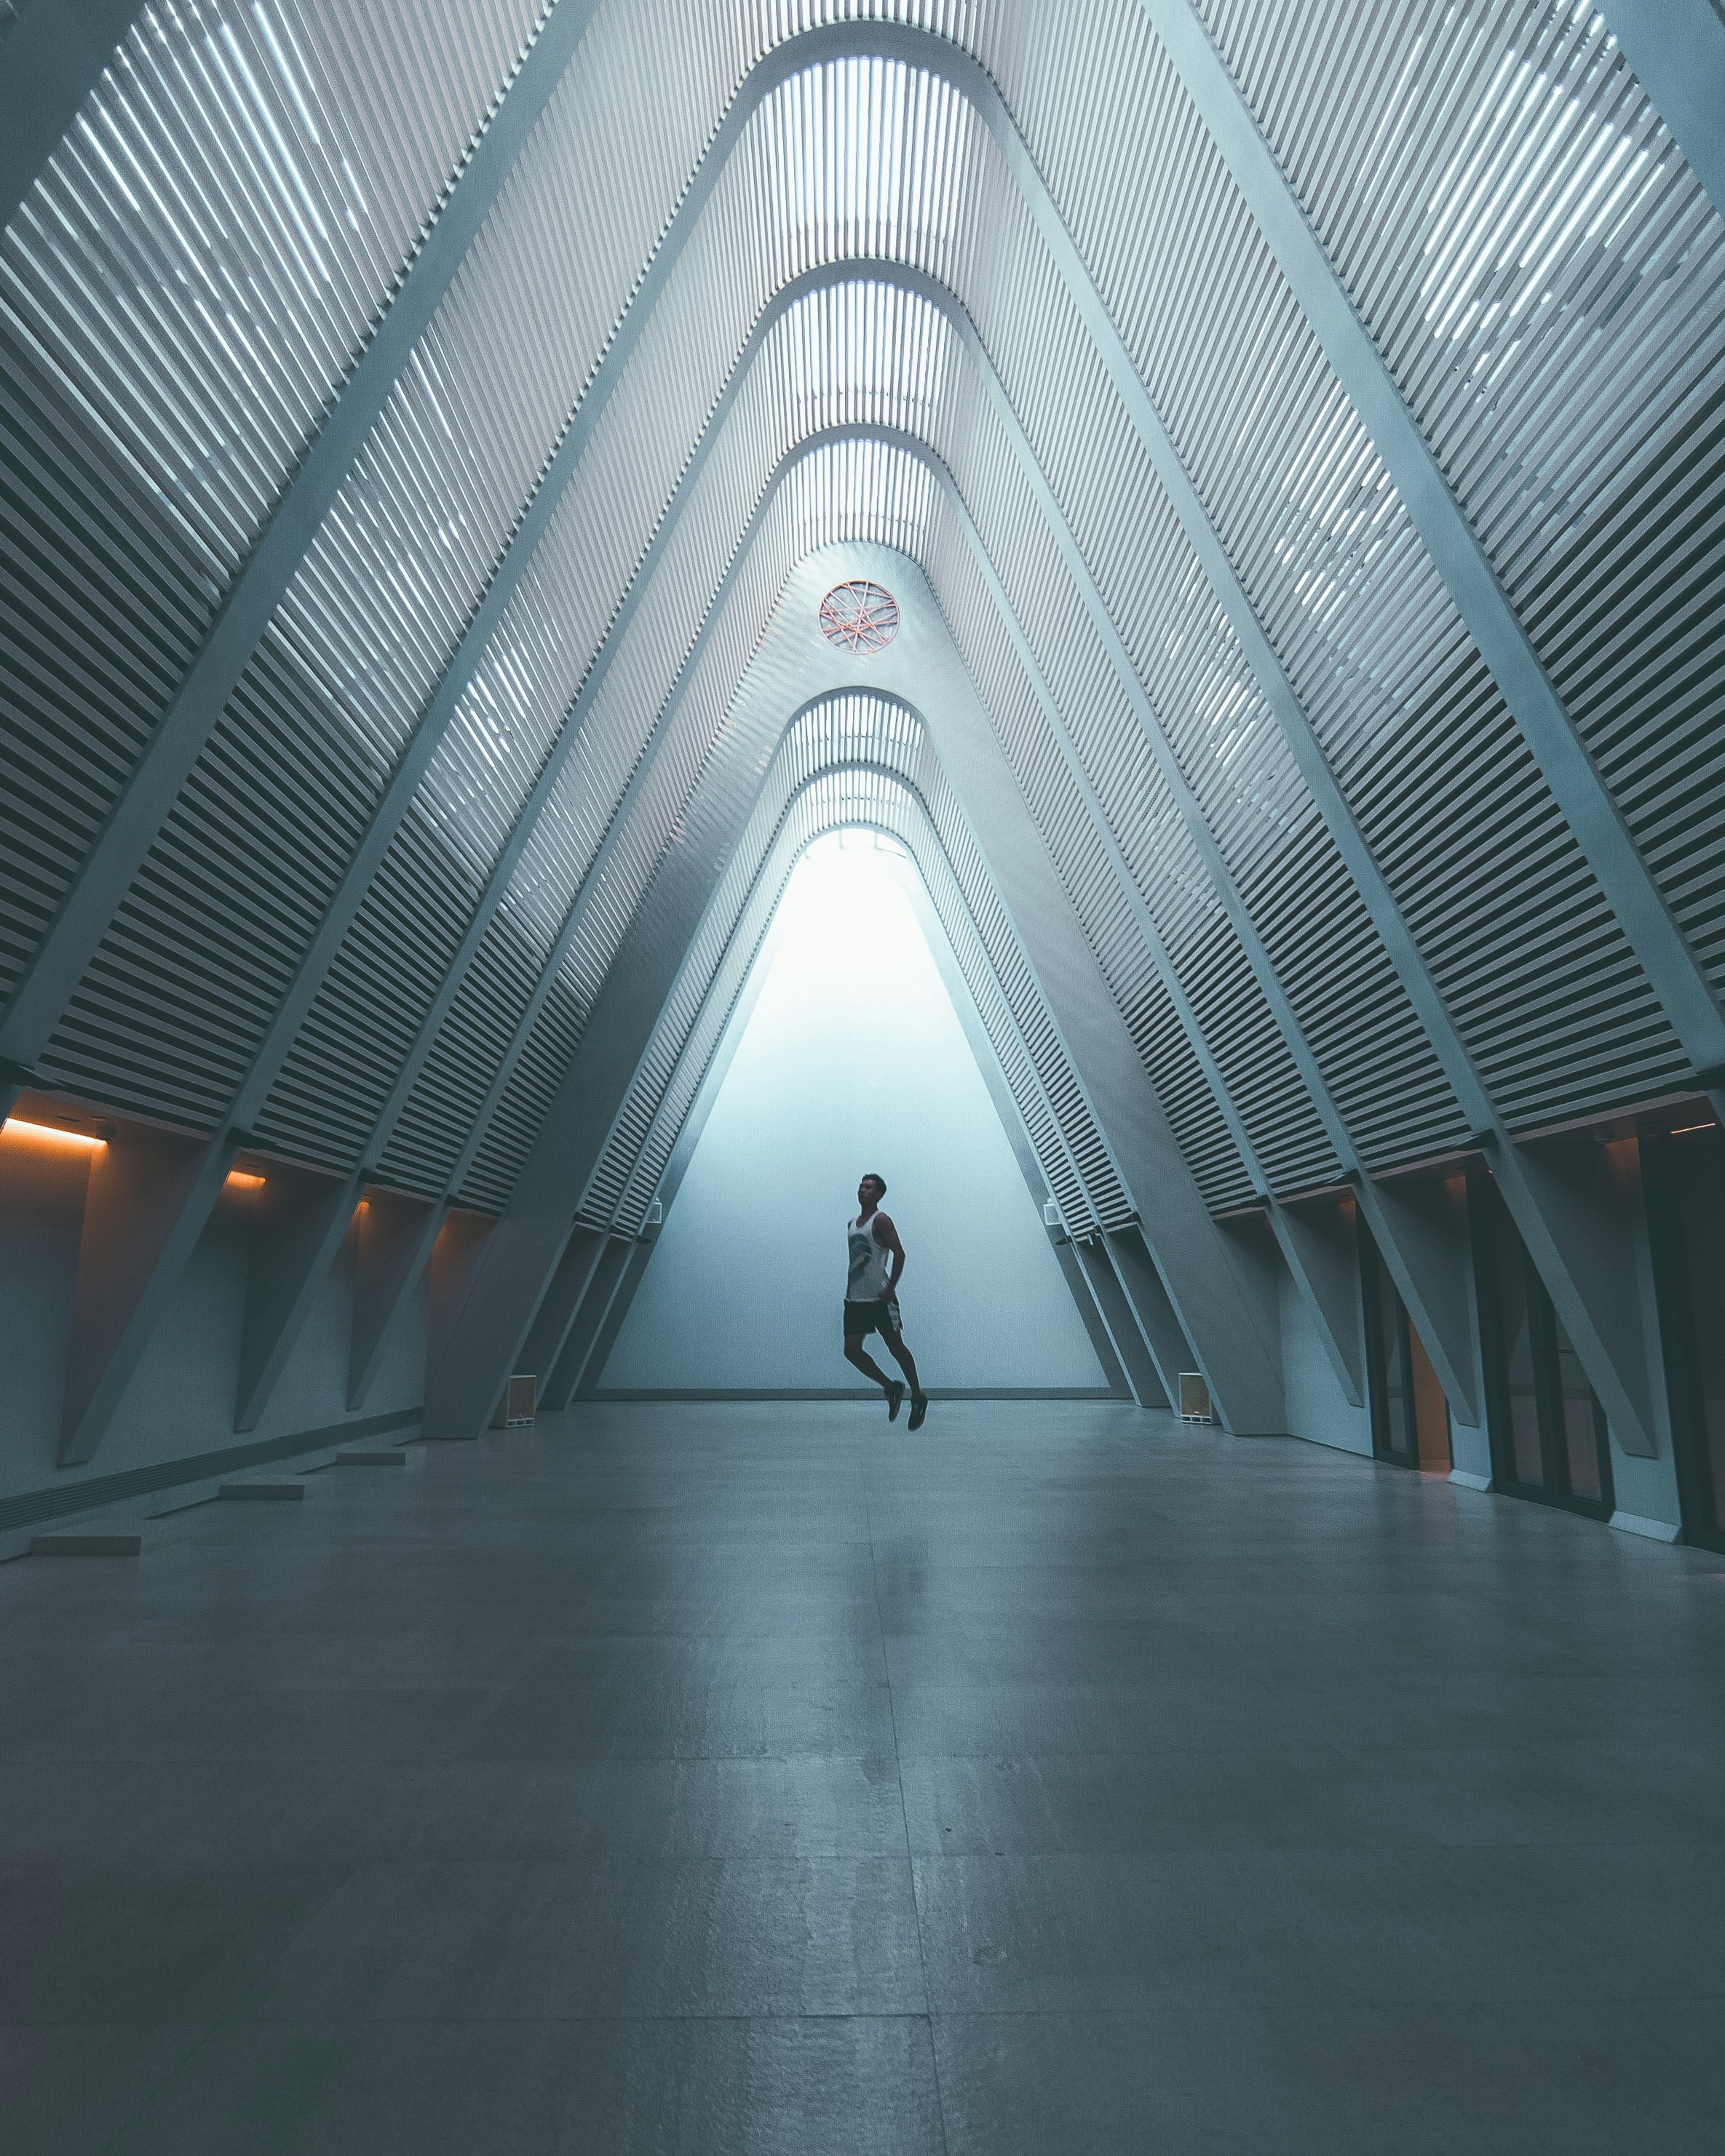
[[[9,2156],[1725,2145],[1725,1561],[1115,1406],[0,1567]]]

